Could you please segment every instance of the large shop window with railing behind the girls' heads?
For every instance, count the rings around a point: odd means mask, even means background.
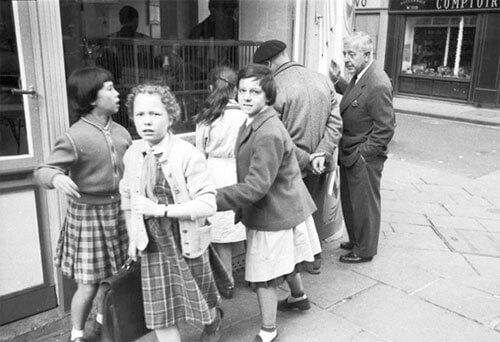
[[[245,66],[263,40],[281,39],[291,47],[295,1],[59,3],[66,73],[88,65],[111,71],[122,103],[115,120],[132,134],[133,124],[123,104],[133,86],[151,80],[170,86],[182,109],[182,120],[174,131],[193,131],[193,117],[208,94],[212,68]]]

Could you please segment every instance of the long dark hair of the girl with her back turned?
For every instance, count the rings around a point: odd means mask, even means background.
[[[236,72],[227,66],[217,67],[210,72],[210,85],[212,91],[203,103],[201,113],[196,118],[196,123],[211,124],[224,112],[224,107],[236,94]]]

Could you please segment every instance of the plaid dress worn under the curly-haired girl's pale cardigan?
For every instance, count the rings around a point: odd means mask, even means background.
[[[173,203],[159,163],[156,171],[153,192],[158,203]],[[210,308],[220,297],[209,250],[196,259],[184,258],[177,219],[150,218],[146,227],[150,241],[141,255],[146,326],[160,329],[181,321],[210,324]]]

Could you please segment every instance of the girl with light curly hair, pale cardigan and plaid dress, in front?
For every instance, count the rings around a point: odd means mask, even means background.
[[[180,341],[180,322],[201,323],[201,341],[218,341],[222,311],[211,263],[225,269],[209,255],[215,188],[205,158],[170,132],[180,108],[167,87],[135,87],[127,107],[142,140],[125,154],[120,192],[129,255],[141,255],[146,326],[171,342]]]

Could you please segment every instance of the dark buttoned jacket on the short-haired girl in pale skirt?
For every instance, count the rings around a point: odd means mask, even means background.
[[[238,183],[217,189],[217,210],[237,210],[250,229],[295,227],[315,210],[300,174],[295,145],[272,107],[243,125],[235,146]]]

